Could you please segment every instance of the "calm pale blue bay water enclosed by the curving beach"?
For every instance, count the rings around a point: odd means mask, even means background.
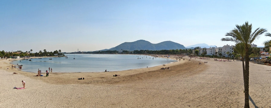
[[[65,57],[33,58],[32,61],[13,61],[11,64],[23,65],[22,71],[42,73],[49,67],[53,72],[104,72],[153,67],[174,62],[166,58],[153,58],[149,55],[118,55],[118,54],[68,54]],[[76,58],[76,59],[73,59]],[[138,59],[140,58],[140,59]],[[29,59],[29,58],[28,58]]]

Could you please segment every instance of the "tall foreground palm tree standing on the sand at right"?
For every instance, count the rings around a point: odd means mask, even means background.
[[[257,28],[252,32],[252,24],[245,22],[243,25],[236,25],[236,28],[226,33],[225,36],[230,36],[222,38],[221,41],[234,41],[236,44],[241,44],[241,48],[245,50],[245,67],[243,67],[243,77],[244,77],[244,92],[245,92],[245,108],[249,108],[249,48],[250,44],[260,35],[267,32],[266,29]],[[242,58],[243,59],[243,58]]]

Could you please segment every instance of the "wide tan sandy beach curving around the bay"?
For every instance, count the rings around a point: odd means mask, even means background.
[[[37,73],[11,69],[10,61],[3,59],[0,108],[244,107],[241,61],[184,58],[166,66],[102,73],[50,73],[48,77],[45,73],[36,76]],[[162,67],[170,69],[161,70]],[[120,76],[114,77],[115,74]],[[81,77],[85,79],[77,79]],[[251,108],[271,107],[270,78],[270,66],[250,63]],[[23,87],[22,80],[26,88],[14,89]]]

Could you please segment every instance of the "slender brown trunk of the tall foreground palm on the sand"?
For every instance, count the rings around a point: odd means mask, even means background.
[[[245,92],[245,108],[249,108],[249,51],[246,49],[245,55],[245,71],[243,70],[244,76],[244,92]]]

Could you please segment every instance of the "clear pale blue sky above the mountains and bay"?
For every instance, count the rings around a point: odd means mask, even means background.
[[[109,49],[124,42],[184,46],[221,38],[246,21],[271,32],[270,0],[2,0],[0,50]],[[271,38],[262,35],[254,44]]]

